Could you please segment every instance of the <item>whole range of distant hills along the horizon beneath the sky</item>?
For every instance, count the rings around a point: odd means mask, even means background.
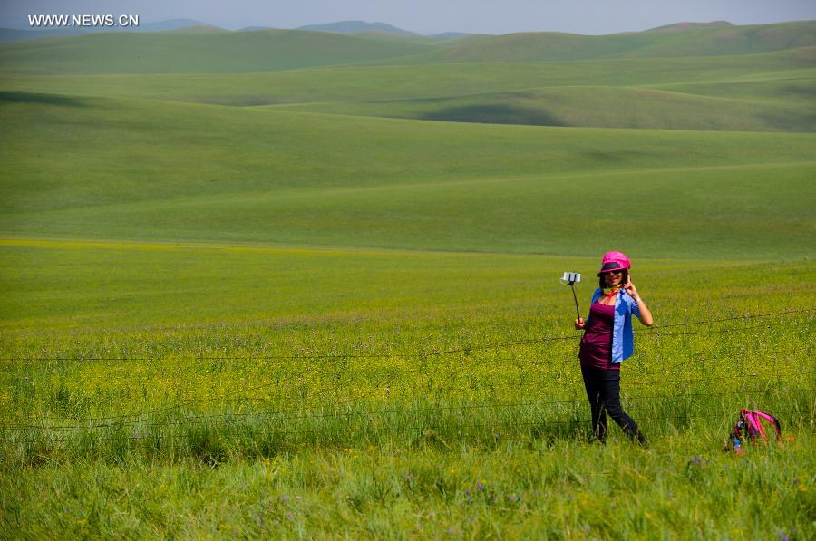
[[[355,32],[344,34],[309,30],[230,32],[203,24],[182,26],[189,22],[166,22],[166,28],[152,33],[92,33],[51,37],[37,43],[8,43],[20,42],[21,32],[9,30],[0,33],[0,41],[6,42],[0,44],[0,66],[40,73],[263,72],[360,63],[703,57],[816,46],[816,21],[749,26],[713,23],[683,29],[684,23],[675,25],[672,31],[653,29],[637,34],[474,34],[447,40],[377,30],[377,24],[368,23],[322,26]]]

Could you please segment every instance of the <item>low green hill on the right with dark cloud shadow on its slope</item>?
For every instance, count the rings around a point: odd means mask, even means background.
[[[770,82],[769,82],[770,83]],[[288,107],[293,111],[406,118],[425,121],[604,127],[659,130],[816,131],[816,103],[806,96],[816,82],[775,81],[775,100],[704,96],[653,88],[561,86],[461,98],[426,98]],[[732,85],[733,92],[739,92]],[[753,84],[743,84],[753,87]],[[784,99],[784,97],[788,99]]]

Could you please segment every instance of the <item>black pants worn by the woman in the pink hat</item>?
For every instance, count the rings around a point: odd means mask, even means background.
[[[637,423],[620,405],[620,371],[581,365],[581,373],[592,411],[592,431],[597,440],[607,440],[608,413],[631,440],[646,443],[646,437],[637,428]]]

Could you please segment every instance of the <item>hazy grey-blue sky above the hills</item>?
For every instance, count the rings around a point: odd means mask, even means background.
[[[0,24],[23,24],[27,14],[138,14],[142,23],[191,18],[230,29],[363,20],[420,34],[610,34],[685,21],[810,20],[816,19],[816,0],[2,0],[0,4]]]

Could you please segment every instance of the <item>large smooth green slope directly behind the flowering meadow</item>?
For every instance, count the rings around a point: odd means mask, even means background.
[[[0,226],[16,237],[582,255],[626,216],[619,244],[651,256],[813,255],[812,135],[11,98]]]

